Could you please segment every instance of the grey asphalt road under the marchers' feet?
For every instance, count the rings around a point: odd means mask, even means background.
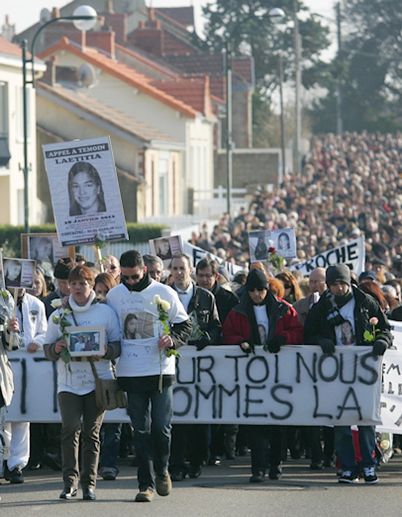
[[[168,497],[155,495],[152,503],[135,503],[137,469],[132,457],[119,460],[115,481],[98,480],[96,501],[58,498],[63,489],[61,473],[50,469],[25,472],[23,484],[0,486],[1,517],[108,517],[140,514],[141,517],[400,517],[402,510],[402,455],[394,456],[378,471],[380,482],[340,485],[335,468],[309,469],[309,460],[284,463],[278,481],[250,484],[250,457],[203,467],[202,476],[173,483]]]

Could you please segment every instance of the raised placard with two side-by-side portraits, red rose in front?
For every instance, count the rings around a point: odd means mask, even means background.
[[[250,262],[265,261],[273,251],[283,258],[296,256],[294,228],[249,232],[248,239]]]

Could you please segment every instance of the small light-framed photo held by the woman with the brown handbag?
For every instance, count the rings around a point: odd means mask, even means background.
[[[71,357],[103,356],[105,348],[105,327],[68,327],[68,349]]]

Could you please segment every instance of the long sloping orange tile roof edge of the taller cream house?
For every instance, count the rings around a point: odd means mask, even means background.
[[[137,72],[123,63],[119,63],[110,57],[107,57],[105,54],[102,54],[93,48],[86,47],[83,50],[81,47],[71,44],[66,37],[61,38],[59,42],[53,45],[50,49],[43,51],[39,54],[39,57],[43,59],[63,50],[81,57],[87,63],[91,63],[92,65],[105,70],[117,79],[130,84],[132,87],[138,88],[140,92],[169,105],[172,109],[177,110],[189,118],[195,118],[197,116],[197,111],[190,105],[172,97],[152,85],[151,78],[146,77],[146,75]]]

